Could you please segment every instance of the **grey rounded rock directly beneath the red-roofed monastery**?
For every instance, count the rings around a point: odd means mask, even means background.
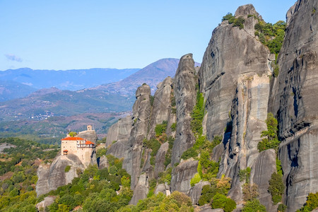
[[[71,166],[69,172],[65,172],[67,165]],[[37,169],[38,179],[35,187],[37,196],[69,184],[74,177],[78,177],[76,170],[84,170],[84,168],[76,155],[60,155],[51,165],[40,165]]]

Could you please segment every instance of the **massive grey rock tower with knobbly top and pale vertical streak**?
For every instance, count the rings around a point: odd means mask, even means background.
[[[272,173],[266,164],[254,164],[261,160],[257,143],[261,131],[266,130],[269,61],[273,57],[254,35],[257,18],[248,15],[261,19],[254,6],[247,4],[235,12],[236,18],[245,18],[244,29],[225,20],[213,30],[199,70],[200,90],[206,100],[204,132],[210,140],[223,135],[223,144],[215,148],[213,158],[218,160],[221,155],[218,177],[232,178],[229,196],[235,201],[242,200],[240,170],[252,167],[257,176],[260,170]],[[275,161],[276,155],[271,157]]]

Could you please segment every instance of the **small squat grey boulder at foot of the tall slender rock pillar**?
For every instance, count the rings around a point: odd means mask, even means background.
[[[190,180],[197,172],[198,160],[186,160],[172,170],[171,192],[179,191],[187,194],[191,188]]]

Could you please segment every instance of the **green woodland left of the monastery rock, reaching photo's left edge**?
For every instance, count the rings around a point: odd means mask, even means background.
[[[0,211],[37,211],[35,184],[41,160],[52,162],[57,146],[18,138],[0,139],[5,148],[0,153]],[[13,147],[13,145],[15,147]]]

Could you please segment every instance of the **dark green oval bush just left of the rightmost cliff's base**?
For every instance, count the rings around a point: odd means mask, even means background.
[[[271,200],[274,205],[281,201],[285,189],[282,177],[283,175],[273,172],[271,179],[269,179],[269,193],[271,193]]]

